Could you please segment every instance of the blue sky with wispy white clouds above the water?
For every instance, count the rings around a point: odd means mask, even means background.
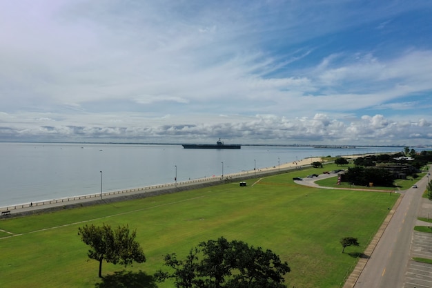
[[[0,0],[0,141],[432,145],[430,0]]]

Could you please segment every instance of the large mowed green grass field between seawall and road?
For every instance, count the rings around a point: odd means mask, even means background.
[[[315,189],[292,180],[311,171],[157,197],[1,220],[0,287],[174,287],[153,283],[163,256],[184,258],[199,242],[224,236],[271,249],[291,267],[286,286],[342,287],[398,194]],[[122,267],[88,260],[84,224],[128,224],[147,261]],[[342,252],[340,238],[360,247]],[[125,283],[127,282],[127,283]]]

